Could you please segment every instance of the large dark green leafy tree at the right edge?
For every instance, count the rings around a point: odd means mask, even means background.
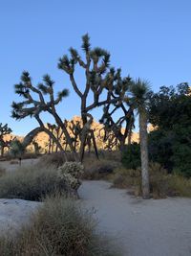
[[[187,82],[161,86],[151,93],[150,123],[157,127],[149,135],[151,159],[169,173],[191,176],[191,90]]]

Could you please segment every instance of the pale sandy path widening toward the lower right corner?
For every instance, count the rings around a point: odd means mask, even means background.
[[[191,199],[132,198],[105,181],[84,181],[79,195],[96,208],[99,230],[117,238],[124,256],[191,255]]]

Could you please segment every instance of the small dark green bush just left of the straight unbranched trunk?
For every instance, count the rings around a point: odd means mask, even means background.
[[[137,169],[140,166],[140,148],[138,143],[127,145],[122,152],[122,164],[126,169]]]

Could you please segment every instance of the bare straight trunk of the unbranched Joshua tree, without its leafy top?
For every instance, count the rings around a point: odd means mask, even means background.
[[[142,176],[142,197],[149,198],[149,164],[148,164],[148,137],[147,137],[147,114],[145,110],[139,111],[139,137]]]

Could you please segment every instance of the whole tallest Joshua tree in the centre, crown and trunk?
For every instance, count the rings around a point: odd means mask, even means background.
[[[94,137],[93,130],[91,128],[88,130],[86,126],[92,120],[89,112],[97,106],[120,101],[126,91],[126,82],[121,80],[119,69],[110,67],[110,54],[106,50],[99,47],[92,49],[89,35],[82,36],[81,48],[85,55],[84,59],[74,48],[70,48],[70,57],[64,55],[60,58],[58,68],[69,75],[74,91],[80,98],[82,133],[91,133]],[[75,79],[74,72],[78,68],[81,68],[85,74],[84,85],[77,83]],[[115,92],[119,87],[120,94],[117,95]],[[88,134],[81,136],[85,142],[84,145],[81,143],[80,151],[84,151],[87,137]]]

